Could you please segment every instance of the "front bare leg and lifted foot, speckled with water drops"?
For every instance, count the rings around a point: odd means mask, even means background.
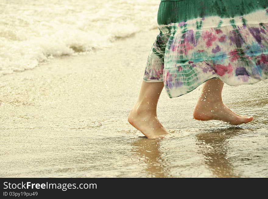
[[[213,78],[204,83],[201,97],[194,108],[194,119],[202,121],[221,120],[232,125],[252,121],[253,117],[238,115],[223,104],[221,98],[223,85],[224,82],[219,78]]]

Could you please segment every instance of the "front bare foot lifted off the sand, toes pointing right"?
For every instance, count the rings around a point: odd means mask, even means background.
[[[231,125],[239,125],[251,122],[253,117],[238,115],[231,111],[222,102],[198,101],[193,111],[193,118],[196,120],[221,120]]]

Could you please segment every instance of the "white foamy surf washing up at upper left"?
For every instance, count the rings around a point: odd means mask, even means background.
[[[155,0],[1,0],[0,76],[157,28]]]

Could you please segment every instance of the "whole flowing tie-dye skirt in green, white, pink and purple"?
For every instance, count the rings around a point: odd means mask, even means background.
[[[212,78],[268,83],[268,0],[161,0],[157,22],[143,81],[169,98]]]

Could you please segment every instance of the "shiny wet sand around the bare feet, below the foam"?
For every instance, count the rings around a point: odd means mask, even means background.
[[[248,124],[192,119],[200,87],[162,91],[170,137],[146,139],[128,123],[157,34],[0,77],[0,177],[268,177],[264,82],[224,86],[224,103],[252,115]]]

